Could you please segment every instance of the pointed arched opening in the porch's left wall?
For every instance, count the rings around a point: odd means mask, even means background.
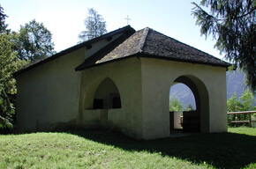
[[[117,85],[105,78],[94,94],[94,109],[121,108],[121,97]]]

